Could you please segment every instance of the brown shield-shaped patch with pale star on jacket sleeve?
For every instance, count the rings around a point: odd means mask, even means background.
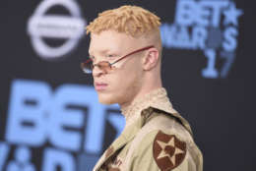
[[[186,142],[181,142],[175,135],[166,135],[160,131],[153,144],[153,156],[161,171],[172,170],[184,160]]]

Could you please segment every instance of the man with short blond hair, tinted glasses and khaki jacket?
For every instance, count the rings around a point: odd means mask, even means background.
[[[99,14],[87,33],[91,59],[82,68],[93,73],[99,102],[118,103],[126,119],[94,170],[202,171],[190,126],[161,85],[160,18],[122,6]]]

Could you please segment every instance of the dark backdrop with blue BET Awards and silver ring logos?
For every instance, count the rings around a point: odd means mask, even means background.
[[[163,86],[192,126],[204,170],[252,170],[253,5],[8,0],[0,2],[0,171],[89,171],[122,132],[118,105],[98,103],[80,63],[90,43],[85,27],[125,4],[161,18]]]

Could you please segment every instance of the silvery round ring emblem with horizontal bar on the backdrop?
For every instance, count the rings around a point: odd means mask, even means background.
[[[64,7],[71,16],[46,14],[52,7]],[[72,51],[83,36],[86,21],[81,18],[75,0],[43,0],[35,9],[28,23],[32,46],[44,59],[54,59]],[[63,40],[61,45],[51,46],[45,39]]]

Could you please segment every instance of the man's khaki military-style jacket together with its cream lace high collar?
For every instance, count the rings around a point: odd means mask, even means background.
[[[164,88],[136,100],[122,113],[128,120],[126,127],[94,171],[203,170],[202,153],[190,126],[172,108]]]

